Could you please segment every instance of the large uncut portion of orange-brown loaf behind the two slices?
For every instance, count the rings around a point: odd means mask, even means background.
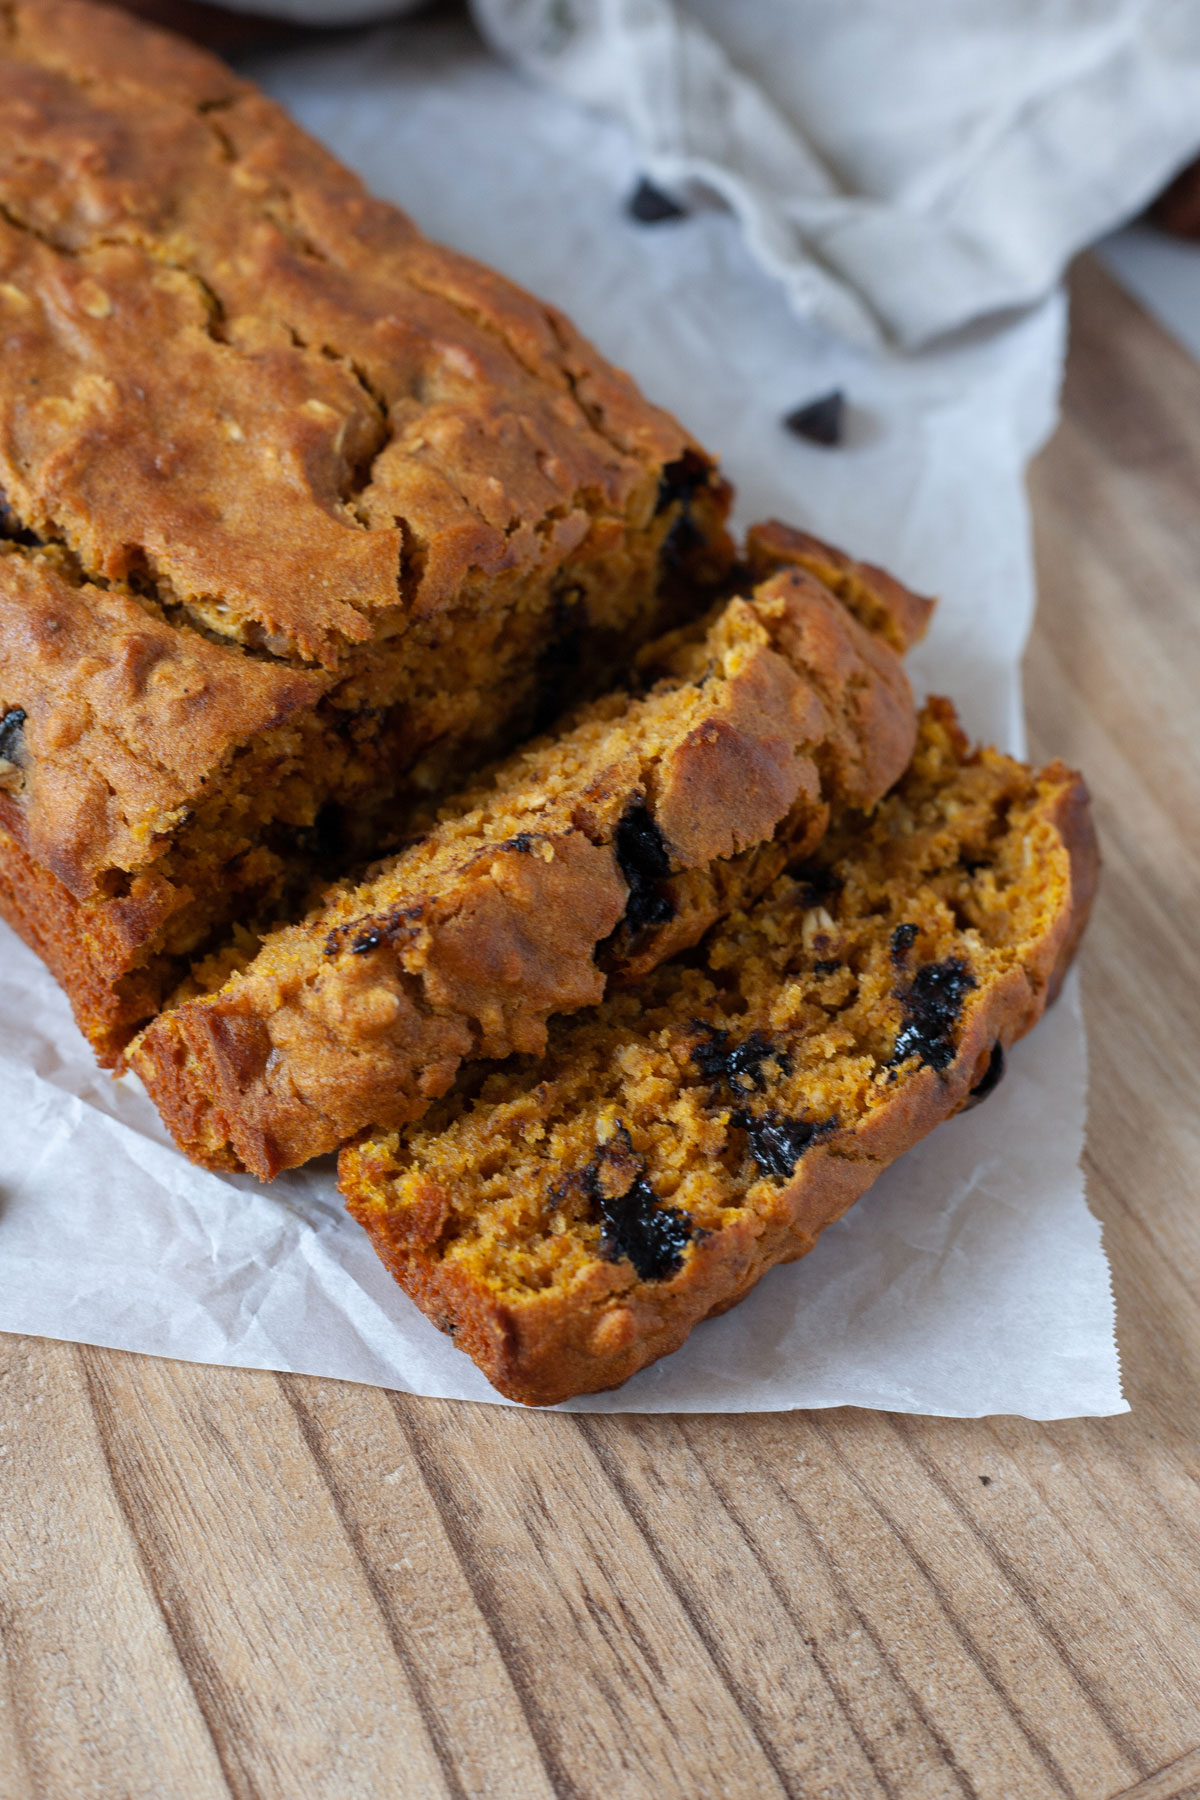
[[[0,911],[113,1062],[730,563],[703,450],[216,58],[0,7]]]

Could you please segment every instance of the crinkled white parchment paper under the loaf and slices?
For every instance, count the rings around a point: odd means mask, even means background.
[[[1054,419],[1058,297],[910,360],[801,324],[727,214],[639,227],[622,131],[412,22],[252,74],[435,238],[565,306],[738,482],[943,596],[912,659],[968,729],[1020,749],[1033,608],[1024,464]],[[847,443],[781,414],[831,387]],[[133,1078],[99,1073],[67,1003],[0,927],[0,1328],[498,1402],[376,1262],[331,1163],[259,1188],[191,1168]],[[892,1168],[815,1253],[596,1411],[856,1404],[1114,1413],[1108,1271],[1078,1168],[1074,981],[997,1094]],[[502,1404],[502,1402],[500,1402]]]

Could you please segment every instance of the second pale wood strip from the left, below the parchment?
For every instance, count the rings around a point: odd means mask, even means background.
[[[277,1381],[99,1350],[79,1364],[228,1791],[344,1800],[403,1771],[461,1800]]]

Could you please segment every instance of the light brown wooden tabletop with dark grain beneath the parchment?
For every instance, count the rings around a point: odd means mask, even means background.
[[[1033,491],[1132,1415],[540,1417],[0,1339],[4,1800],[1200,1795],[1200,369],[1092,263]]]

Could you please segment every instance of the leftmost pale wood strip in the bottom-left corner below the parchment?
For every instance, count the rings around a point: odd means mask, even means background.
[[[0,1336],[5,1800],[227,1800],[70,1345]]]

